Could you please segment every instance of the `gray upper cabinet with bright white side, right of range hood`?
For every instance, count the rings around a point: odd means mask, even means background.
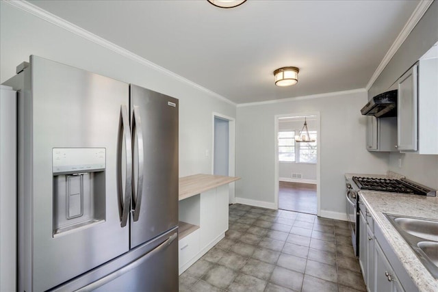
[[[398,84],[398,150],[438,154],[438,57],[420,59]]]

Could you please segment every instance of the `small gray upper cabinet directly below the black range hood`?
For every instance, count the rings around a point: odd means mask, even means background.
[[[397,118],[367,116],[367,150],[397,151]]]

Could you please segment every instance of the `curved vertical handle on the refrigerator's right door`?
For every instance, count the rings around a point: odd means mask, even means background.
[[[132,118],[132,137],[137,138],[138,147],[138,178],[137,178],[137,192],[133,189],[133,221],[138,221],[140,216],[140,205],[142,204],[142,191],[143,191],[143,133],[142,133],[142,120],[140,118],[140,110],[137,105],[133,107]],[[132,145],[134,146],[134,144]],[[133,185],[135,187],[135,185]],[[136,194],[135,194],[136,193]]]

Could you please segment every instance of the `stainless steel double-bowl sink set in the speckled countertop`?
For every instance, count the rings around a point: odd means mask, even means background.
[[[430,274],[438,279],[438,221],[384,214]]]

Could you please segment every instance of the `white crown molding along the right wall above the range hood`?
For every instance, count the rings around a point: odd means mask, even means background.
[[[412,12],[411,17],[408,19],[407,23],[404,25],[402,31],[400,31],[400,34],[398,34],[396,40],[391,45],[389,50],[387,51],[385,57],[383,57],[381,64],[378,65],[376,68],[376,71],[372,75],[370,81],[368,81],[368,84],[365,86],[365,89],[368,91],[370,90],[371,86],[373,85],[374,81],[381,75],[381,72],[392,57],[397,53],[398,49],[400,49],[401,45],[403,44],[404,40],[411,34],[411,31],[417,25],[417,23],[420,21],[420,19],[423,17],[424,13],[428,10],[430,4],[433,3],[433,0],[422,0],[420,3],[418,3],[415,10]]]

